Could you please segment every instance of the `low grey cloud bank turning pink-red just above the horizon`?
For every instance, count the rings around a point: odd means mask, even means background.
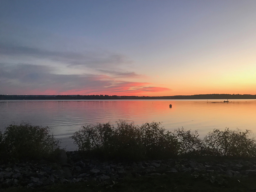
[[[170,90],[148,82],[119,81],[108,75],[59,75],[48,66],[0,63],[0,94],[141,95]]]

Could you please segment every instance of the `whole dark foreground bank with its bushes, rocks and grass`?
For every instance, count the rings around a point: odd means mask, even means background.
[[[48,127],[28,123],[0,132],[0,189],[9,191],[250,191],[256,140],[250,130],[166,131],[119,120],[87,124],[60,149]]]

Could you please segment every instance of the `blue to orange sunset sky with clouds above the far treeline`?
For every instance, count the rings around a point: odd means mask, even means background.
[[[0,1],[0,94],[256,94],[256,1]]]

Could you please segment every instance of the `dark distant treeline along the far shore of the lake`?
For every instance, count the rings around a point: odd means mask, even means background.
[[[200,94],[175,96],[117,96],[117,95],[0,95],[0,100],[76,100],[76,99],[256,99],[250,94]]]

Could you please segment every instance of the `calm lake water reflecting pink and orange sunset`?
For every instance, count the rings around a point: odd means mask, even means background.
[[[222,102],[221,102],[222,101]],[[172,104],[172,108],[169,105]],[[49,126],[62,147],[75,150],[69,139],[84,124],[141,125],[162,122],[165,129],[198,130],[201,138],[213,129],[251,129],[256,134],[256,100],[8,100],[0,101],[0,129],[22,121]]]

